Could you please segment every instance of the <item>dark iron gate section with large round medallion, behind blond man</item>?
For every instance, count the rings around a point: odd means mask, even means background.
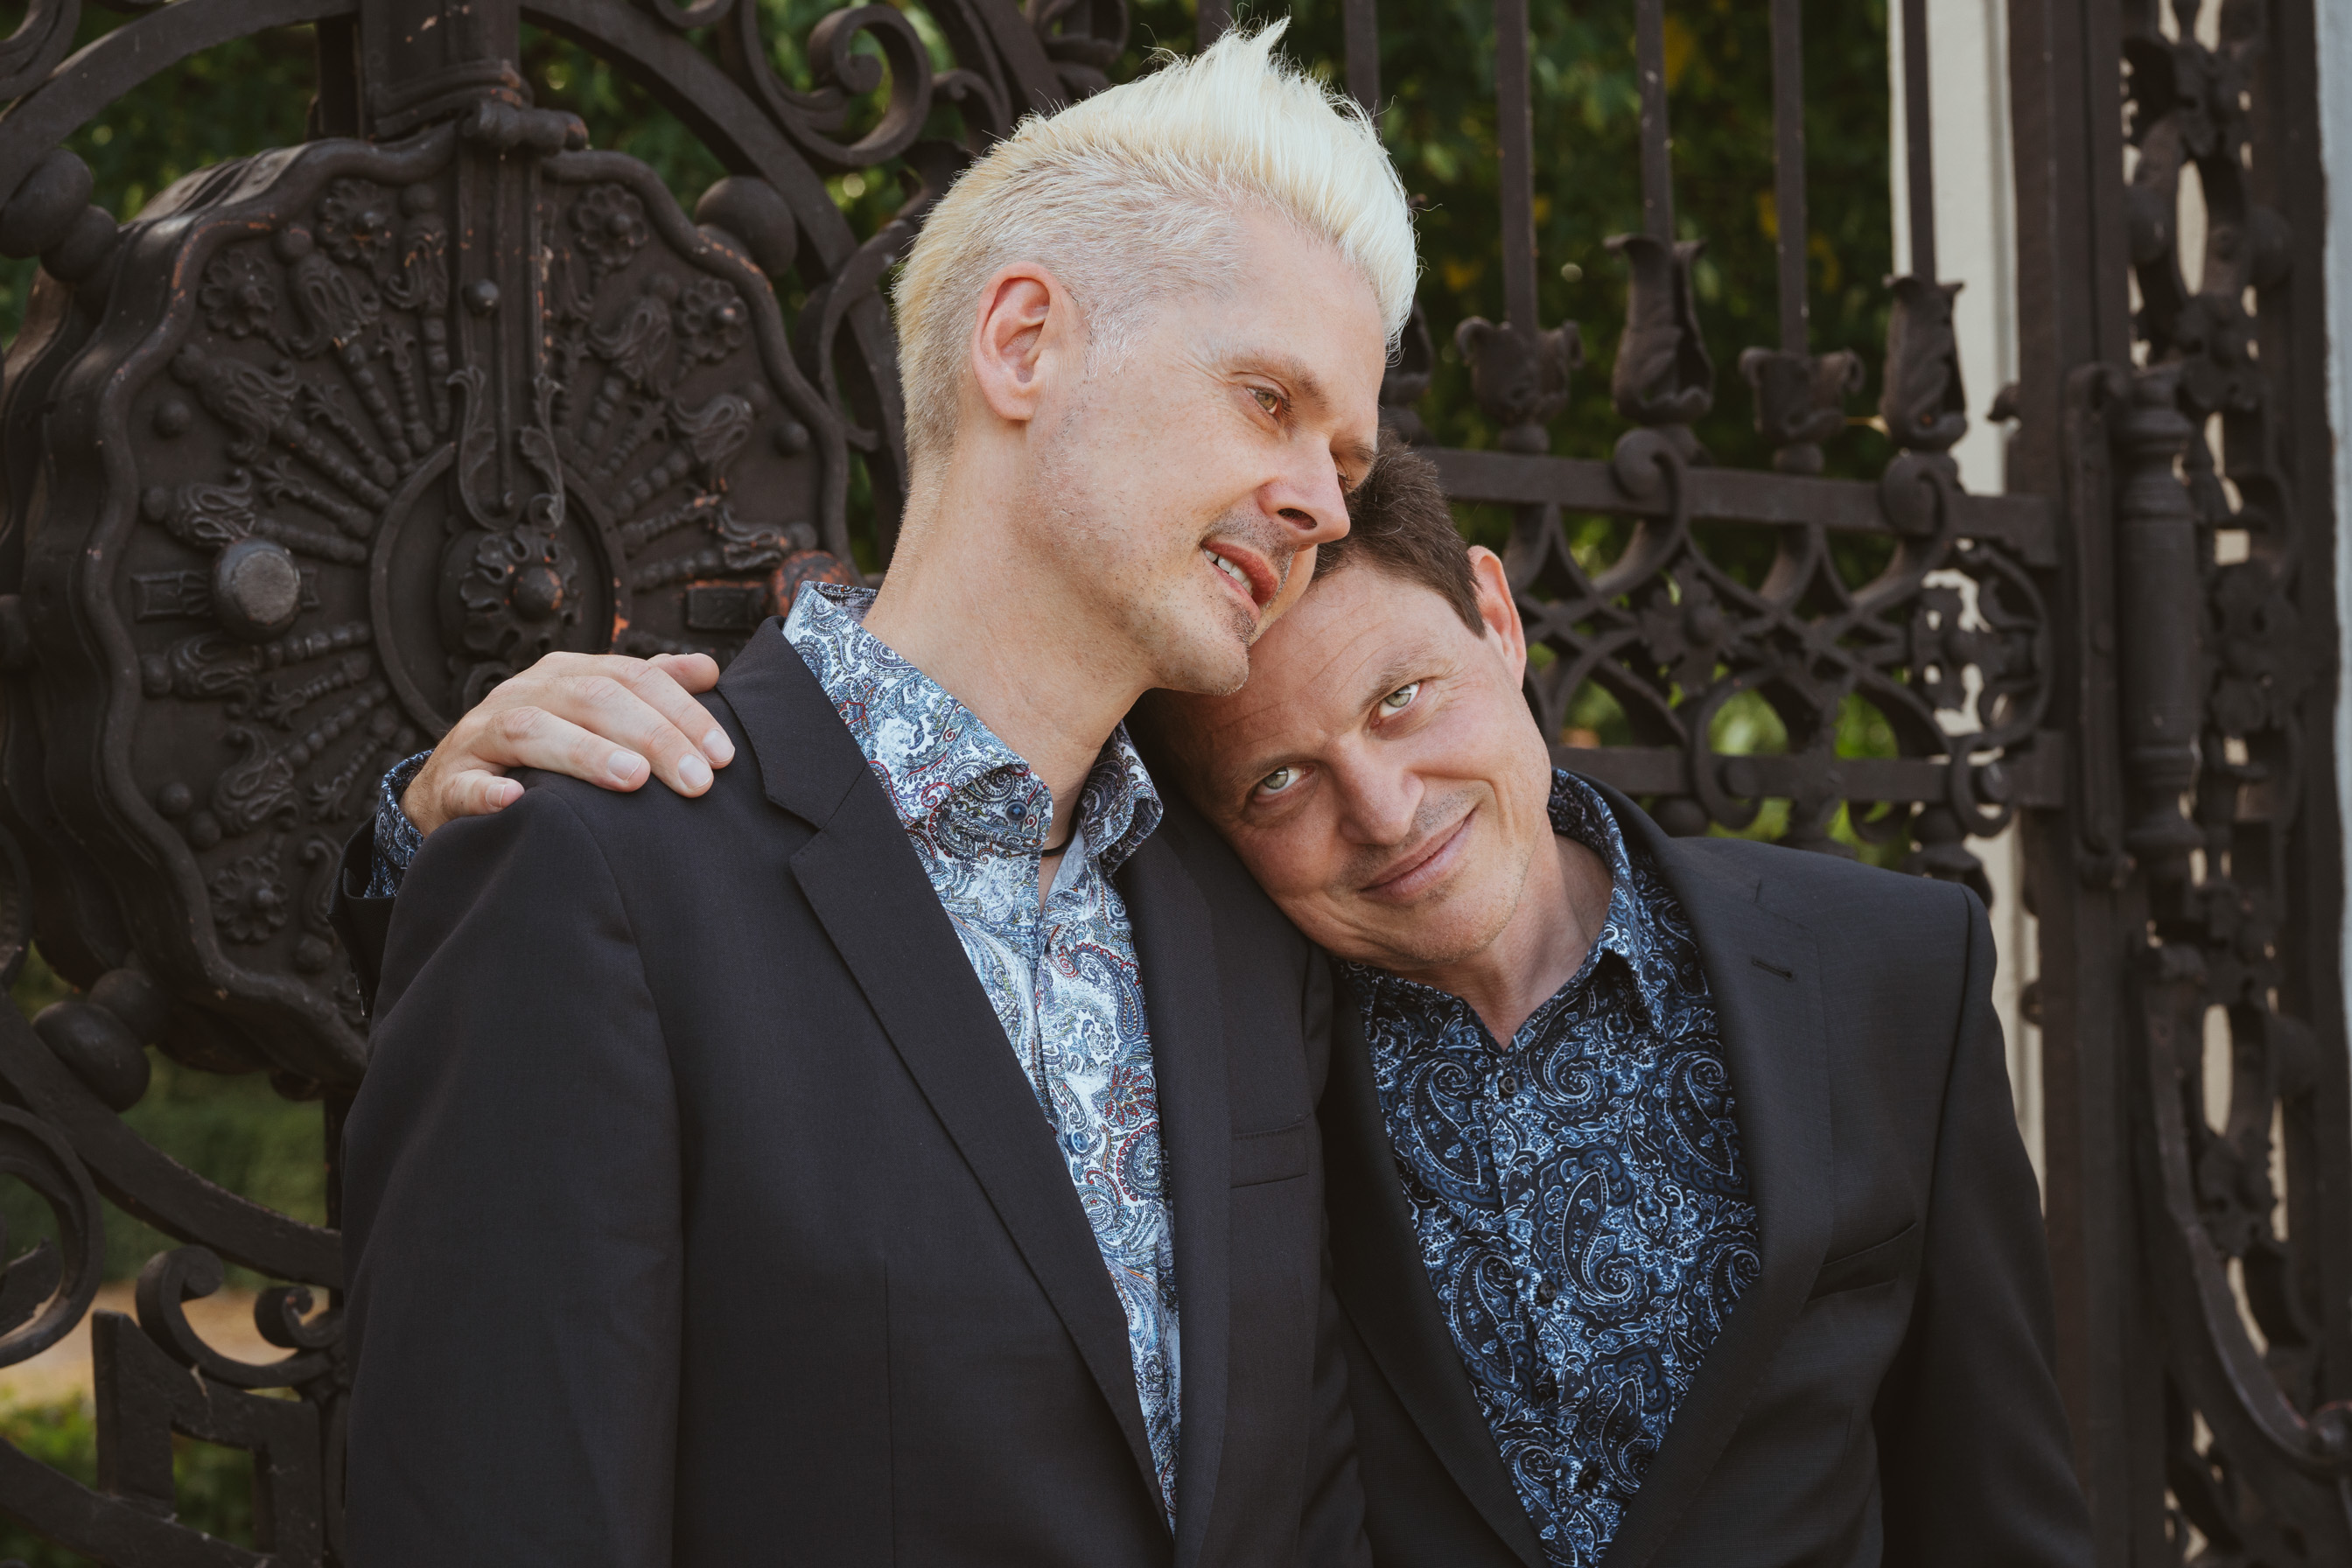
[[[181,0],[68,61],[78,19],[35,0],[0,40],[0,254],[42,261],[0,388],[0,976],[38,933],[85,987],[33,1025],[0,1009],[0,1175],[56,1229],[0,1269],[0,1363],[89,1319],[99,1476],[0,1443],[0,1509],[101,1561],[329,1563],[339,1239],[146,1145],[120,1112],[148,1048],[322,1095],[332,1147],[365,1039],[327,907],[374,780],[548,649],[727,658],[800,583],[887,559],[882,277],[978,148],[1108,82],[1127,14],[941,0],[934,63],[903,9],[844,7],[804,85],[748,0]],[[731,169],[691,219],[534,103],[524,21],[626,66]],[[75,127],[289,24],[358,42],[315,115],[343,134],[127,223],[94,202]],[[854,169],[903,174],[873,235],[823,183]],[[89,1314],[99,1194],[176,1244],[136,1316]],[[285,1354],[191,1321],[228,1262],[292,1281],[254,1309]],[[254,1549],[174,1521],[174,1434],[254,1453]]]

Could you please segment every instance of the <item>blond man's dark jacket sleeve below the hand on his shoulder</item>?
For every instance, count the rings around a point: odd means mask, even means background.
[[[346,1561],[668,1563],[677,1098],[557,788],[433,835],[379,1001],[343,1133]]]

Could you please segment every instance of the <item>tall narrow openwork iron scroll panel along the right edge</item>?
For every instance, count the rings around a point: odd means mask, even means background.
[[[2258,7],[2223,7],[2220,47],[2199,42],[2194,7],[2176,21],[2178,38],[2124,45],[2147,367],[2107,414],[2124,844],[2150,912],[2129,1093],[2164,1479],[2176,1533],[2194,1528],[2211,1554],[2345,1561],[2352,1403],[2328,1394],[2345,1368],[2321,1284],[2343,1237],[2317,1168],[2343,1128],[2324,1124],[2321,1034],[2296,1011],[2333,992],[2298,983],[2288,943],[2310,813],[2336,809],[2300,790],[2305,748],[2326,745],[2307,698],[2333,651],[2310,646],[2298,599],[2331,588],[2305,569],[2279,367],[2258,357],[2293,348],[2260,320],[2281,301],[2291,233],[2253,197],[2260,160],[2279,155],[2256,71],[2277,40]],[[2176,221],[2190,169],[2206,214],[2194,284]]]

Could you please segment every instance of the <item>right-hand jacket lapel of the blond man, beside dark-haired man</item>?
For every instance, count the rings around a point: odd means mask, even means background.
[[[1160,1088],[1160,1152],[1176,1225],[1181,1427],[1176,1436],[1176,1568],[1200,1561],[1225,1448],[1232,1331],[1232,1110],[1225,1013],[1209,905],[1169,844],[1171,825],[1120,867]]]

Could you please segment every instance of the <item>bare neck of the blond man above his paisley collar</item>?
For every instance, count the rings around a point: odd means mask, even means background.
[[[955,515],[943,494],[957,494]],[[1105,661],[1112,628],[1070,592],[1070,562],[1033,559],[1014,508],[967,505],[990,484],[922,487],[866,630],[969,708],[1054,792],[1051,839],[1068,837],[1077,795],[1110,731],[1150,684]],[[1007,515],[993,515],[1002,510]]]

